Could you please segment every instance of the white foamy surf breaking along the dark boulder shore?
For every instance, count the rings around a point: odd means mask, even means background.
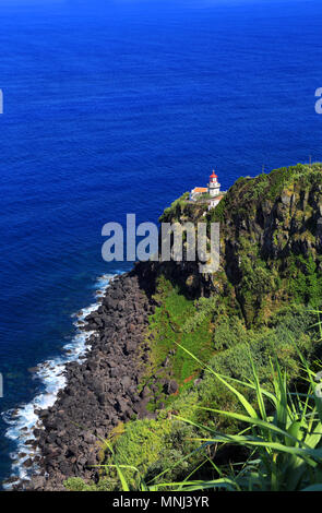
[[[115,276],[117,275],[105,274],[100,276],[94,286],[97,301],[83,308],[80,312],[72,314],[72,318],[76,318],[76,321],[73,322],[76,333],[74,337],[63,346],[62,355],[46,360],[37,366],[35,379],[40,381],[43,392],[36,395],[31,403],[2,414],[4,421],[10,426],[5,432],[5,437],[16,442],[16,451],[10,454],[13,460],[11,477],[16,477],[16,481],[29,479],[32,474],[35,475],[38,472],[35,460],[36,456],[39,455],[39,450],[32,445],[32,441],[35,440],[34,429],[43,429],[41,420],[37,411],[53,405],[58,392],[67,384],[64,377],[65,365],[69,361],[80,361],[91,347],[88,345],[88,338],[94,332],[81,332],[80,326],[84,323],[86,315],[97,310],[100,306],[100,299]],[[32,463],[32,465],[24,465],[25,462],[28,464]],[[3,488],[10,489],[13,484],[14,482],[3,485]]]

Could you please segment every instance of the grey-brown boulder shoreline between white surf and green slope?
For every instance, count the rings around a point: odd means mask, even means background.
[[[82,330],[94,332],[81,362],[65,366],[67,386],[48,409],[38,411],[41,427],[34,430],[31,480],[14,484],[19,490],[64,490],[69,477],[97,480],[99,439],[133,416],[152,416],[146,390],[138,394],[143,366],[148,361],[144,334],[154,311],[151,279],[136,265],[114,278],[98,309],[85,318]]]

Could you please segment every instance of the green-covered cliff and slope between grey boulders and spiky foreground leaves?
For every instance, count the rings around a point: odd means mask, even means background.
[[[321,305],[322,299],[321,205],[322,166],[317,164],[240,178],[211,212],[186,195],[166,208],[162,222],[220,223],[220,266],[208,275],[199,272],[198,262],[136,267],[144,270],[141,275],[152,285],[155,302],[141,385],[156,418],[154,423],[131,420],[115,443],[115,457],[139,462],[144,478],[157,478],[169,462],[189,454],[187,440],[200,432],[187,433],[176,422],[168,426],[172,413],[193,426],[215,423],[224,432],[238,430],[207,413],[208,408],[236,411],[238,405],[202,371],[201,361],[222,375],[248,380],[251,360],[261,383],[270,389],[271,361],[276,356],[289,380],[299,377],[297,347],[308,358],[317,357],[319,346],[310,327],[315,318],[306,306]],[[252,401],[251,393],[248,398]],[[222,454],[225,463],[235,456]],[[167,478],[187,477],[200,465],[199,457],[200,453]],[[111,489],[109,477],[103,486]]]

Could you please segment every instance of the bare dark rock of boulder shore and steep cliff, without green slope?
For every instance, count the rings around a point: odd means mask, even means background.
[[[67,387],[51,408],[39,411],[45,428],[35,432],[40,473],[20,487],[59,490],[72,476],[95,480],[98,441],[120,421],[148,415],[153,384],[141,394],[138,385],[148,361],[145,330],[158,276],[192,299],[220,295],[247,327],[266,322],[282,303],[314,303],[322,297],[320,164],[240,178],[211,212],[178,200],[160,220],[219,222],[218,272],[203,275],[198,262],[151,262],[111,283],[98,310],[86,318],[84,330],[94,335],[84,361],[67,366]],[[168,357],[163,365],[169,365]],[[159,384],[165,394],[178,392],[175,380]]]

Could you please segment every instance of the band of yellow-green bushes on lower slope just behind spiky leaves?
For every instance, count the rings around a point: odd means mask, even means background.
[[[218,330],[213,337],[215,350],[206,367],[199,358],[191,357],[192,351],[187,351],[183,346],[178,348],[199,369],[202,378],[200,382],[193,387],[182,389],[179,395],[170,396],[166,408],[158,411],[157,419],[132,420],[124,425],[124,432],[121,430],[120,436],[112,438],[110,442],[112,454],[109,450],[105,454],[105,473],[98,486],[69,480],[69,489],[120,489],[117,470],[110,466],[116,462],[123,466],[122,472],[131,489],[140,489],[142,480],[158,487],[165,482],[180,481],[191,473],[199,480],[208,476],[218,478],[211,463],[214,452],[210,446],[201,444],[200,439],[206,437],[208,429],[214,427],[216,432],[220,431],[226,437],[234,436],[240,432],[241,423],[237,417],[215,415],[210,407],[241,415],[242,405],[238,396],[227,390],[225,383],[216,377],[226,375],[237,383],[238,390],[255,408],[253,389],[242,384],[251,379],[253,369],[261,386],[267,393],[274,393],[275,374],[271,362],[277,355],[287,374],[287,383],[301,383],[298,350],[312,359],[317,351],[312,338],[317,339],[319,336],[315,329],[310,329],[314,324],[315,314],[300,306],[294,310],[283,309],[271,319],[269,326],[261,330],[247,330],[238,317],[229,320],[229,326],[226,321],[224,315],[220,317]],[[297,346],[294,344],[295,339]],[[184,418],[189,425],[178,417]],[[240,457],[243,462],[249,462],[250,458],[248,452],[240,452],[238,449],[227,454],[224,444],[215,454],[214,462],[216,465],[220,463],[223,473],[228,473],[228,466],[222,462],[235,464]]]

